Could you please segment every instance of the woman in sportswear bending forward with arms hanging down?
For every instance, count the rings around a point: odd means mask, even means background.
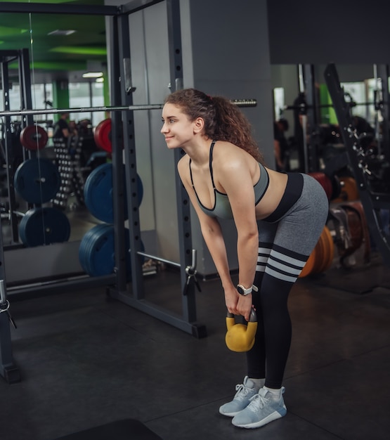
[[[226,98],[195,89],[167,96],[161,129],[169,149],[182,148],[178,173],[199,217],[230,313],[249,321],[256,309],[247,375],[219,412],[255,428],[286,413],[282,378],[290,350],[287,297],[323,231],[328,201],[311,176],[265,167],[251,127]],[[238,286],[231,277],[218,218],[237,228]]]

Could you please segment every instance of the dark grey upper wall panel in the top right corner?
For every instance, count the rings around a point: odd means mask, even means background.
[[[272,64],[389,64],[387,0],[268,0]]]

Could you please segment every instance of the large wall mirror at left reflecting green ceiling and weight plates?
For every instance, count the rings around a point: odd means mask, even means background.
[[[84,184],[110,162],[110,117],[46,110],[110,105],[105,18],[1,13],[0,30],[0,110],[45,110],[0,120],[5,249],[80,240],[99,222],[86,209]]]

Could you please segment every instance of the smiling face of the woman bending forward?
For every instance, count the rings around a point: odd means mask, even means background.
[[[168,148],[181,148],[194,136],[194,123],[177,105],[167,103],[162,109],[162,129]]]

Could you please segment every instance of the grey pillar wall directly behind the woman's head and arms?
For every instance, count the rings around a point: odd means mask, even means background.
[[[192,71],[184,69],[186,86],[230,99],[255,98],[258,105],[242,108],[254,129],[266,162],[273,167],[271,66],[268,51],[266,1],[193,0],[190,6]],[[207,13],[205,13],[207,11]],[[188,37],[183,34],[183,40]],[[189,84],[189,85],[187,85]],[[198,271],[205,276],[216,273],[202,240],[195,214],[192,216],[193,241],[201,259]],[[231,269],[238,268],[236,231],[233,221],[221,221]]]

